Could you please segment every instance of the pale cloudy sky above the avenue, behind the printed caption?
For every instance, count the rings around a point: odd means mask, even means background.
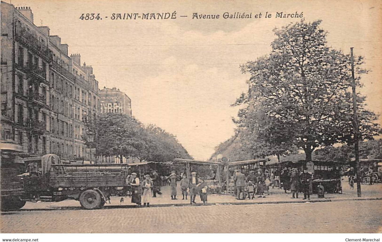
[[[10,2],[6,0],[5,2]],[[382,3],[337,1],[111,1],[12,0],[30,6],[37,26],[49,26],[92,65],[99,88],[117,87],[132,102],[133,115],[176,135],[195,159],[208,159],[214,147],[234,134],[231,107],[247,89],[240,65],[270,53],[272,30],[299,18],[274,18],[276,12],[303,13],[306,21],[322,19],[328,45],[365,57],[359,90],[369,109],[381,113]],[[112,13],[173,13],[176,19],[111,20]],[[262,13],[262,18],[224,19],[223,13]],[[264,18],[265,13],[272,18]],[[102,20],[81,20],[100,13]],[[219,19],[192,19],[193,13]],[[180,17],[180,15],[188,17]],[[105,18],[108,16],[109,18]],[[381,119],[380,119],[381,120]],[[379,123],[381,121],[379,120]]]

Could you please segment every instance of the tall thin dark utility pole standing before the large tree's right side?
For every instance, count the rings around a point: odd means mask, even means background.
[[[357,95],[356,95],[356,82],[354,79],[354,56],[353,47],[350,48],[350,60],[351,60],[351,89],[353,90],[353,129],[354,129],[354,154],[356,157],[356,170],[357,170],[357,196],[361,197],[361,171],[359,167],[359,150],[358,150],[358,138],[359,138],[359,124],[357,115]]]

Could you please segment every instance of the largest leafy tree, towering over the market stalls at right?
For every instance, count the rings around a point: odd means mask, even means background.
[[[248,93],[236,105],[245,104],[239,120],[270,145],[289,143],[312,151],[334,143],[353,143],[350,56],[329,48],[321,21],[305,21],[275,29],[272,52],[242,65],[250,73]],[[356,85],[367,73],[356,57]],[[358,93],[360,139],[380,134],[378,116],[366,110],[365,97]],[[262,118],[262,120],[261,120]],[[289,145],[288,144],[288,145]]]

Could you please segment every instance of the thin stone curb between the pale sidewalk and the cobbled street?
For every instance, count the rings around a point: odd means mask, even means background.
[[[291,204],[291,203],[314,203],[314,202],[341,202],[341,201],[372,201],[372,200],[382,200],[382,197],[354,197],[354,198],[332,198],[332,199],[319,199],[319,200],[294,200],[294,201],[264,201],[264,202],[214,202],[207,203],[207,206],[217,206],[217,205],[255,205],[255,204]],[[203,206],[202,203],[197,204],[152,204],[150,207],[197,207]],[[104,206],[102,209],[125,209],[125,208],[136,208],[136,205],[108,205]],[[143,208],[143,207],[142,207]],[[51,211],[51,210],[82,210],[80,206],[63,206],[55,207],[49,206],[44,209],[21,209],[22,211]]]

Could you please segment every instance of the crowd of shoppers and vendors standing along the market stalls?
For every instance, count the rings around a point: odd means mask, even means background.
[[[332,191],[340,191],[341,177],[344,175],[355,175],[353,167],[347,171],[343,167],[335,167],[325,174],[328,177],[320,177],[320,179],[331,178],[333,180]],[[368,173],[362,170],[361,174],[373,174],[376,170],[375,167],[369,167]],[[329,175],[328,175],[329,174]],[[231,178],[224,184],[225,188],[220,187],[219,193],[226,190],[227,193],[232,193],[236,199],[254,199],[254,197],[265,197],[269,195],[269,188],[283,189],[285,193],[290,191],[291,199],[298,199],[299,193],[303,193],[303,199],[310,200],[312,192],[313,180],[316,179],[316,174],[308,173],[307,169],[298,170],[296,167],[259,167],[254,170],[241,170],[236,167],[231,175]],[[196,172],[191,172],[188,178],[186,174],[177,175],[173,170],[167,176],[160,176],[157,171],[152,171],[144,176],[141,181],[135,172],[131,173],[126,178],[126,187],[131,193],[131,202],[136,203],[138,206],[149,207],[151,198],[156,197],[157,194],[162,194],[160,188],[162,181],[168,181],[170,185],[170,197],[172,200],[177,200],[177,186],[180,185],[182,200],[189,199],[190,204],[195,204],[196,196],[199,195],[201,201],[205,205],[207,196],[210,189],[210,180],[215,179],[215,174],[211,171],[206,177],[199,176]],[[370,179],[372,180],[372,179]],[[317,181],[317,180],[316,180]],[[315,183],[315,190],[318,197],[324,197],[325,187],[324,184]],[[325,185],[327,186],[327,185]]]

